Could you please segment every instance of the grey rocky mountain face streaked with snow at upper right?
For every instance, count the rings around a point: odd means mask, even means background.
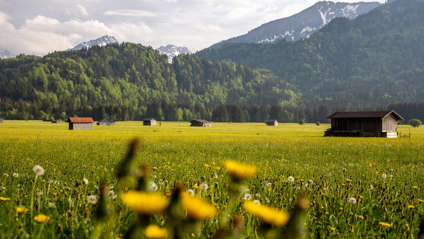
[[[378,2],[333,3],[321,1],[290,17],[262,24],[247,34],[218,42],[211,47],[220,47],[227,42],[272,43],[282,38],[287,41],[296,41],[309,37],[310,34],[318,31],[336,17],[354,19],[380,5],[381,3]]]

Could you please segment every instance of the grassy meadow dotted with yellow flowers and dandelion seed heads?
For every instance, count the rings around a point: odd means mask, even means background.
[[[123,204],[120,195],[136,183],[119,182],[116,174],[134,138],[140,143],[132,168],[148,166],[151,176],[144,180],[154,182],[157,193],[169,198],[182,184],[218,208],[216,215],[195,226],[184,222],[182,238],[219,235],[220,226],[231,228],[227,215],[243,222],[237,233],[241,238],[271,237],[263,234],[265,219],[246,212],[245,194],[292,218],[299,198],[307,197],[301,226],[311,238],[411,238],[418,233],[424,214],[423,127],[399,125],[398,131],[411,138],[387,139],[322,137],[329,124],[189,125],[142,126],[130,121],[72,131],[67,123],[5,121],[0,124],[0,238],[128,236],[140,215]],[[256,167],[237,193],[226,172],[228,160]],[[35,165],[42,166],[44,174],[36,177]],[[99,197],[102,183],[106,197]],[[98,202],[88,202],[89,195]],[[101,217],[104,198],[108,213],[103,216],[108,216]],[[21,208],[28,211],[19,212]],[[50,219],[39,222],[39,214]],[[170,228],[175,224],[170,218],[164,213],[144,221]],[[134,235],[143,238],[148,233],[142,229]]]

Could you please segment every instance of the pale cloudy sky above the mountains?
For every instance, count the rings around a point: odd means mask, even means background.
[[[316,2],[0,0],[0,52],[45,55],[104,35],[114,36],[118,42],[153,48],[172,44],[195,52],[243,35],[265,22],[296,14]]]

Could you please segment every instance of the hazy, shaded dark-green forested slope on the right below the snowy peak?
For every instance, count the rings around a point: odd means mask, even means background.
[[[268,69],[298,87],[305,105],[424,102],[423,12],[423,1],[397,0],[297,42],[229,43],[197,54]]]

